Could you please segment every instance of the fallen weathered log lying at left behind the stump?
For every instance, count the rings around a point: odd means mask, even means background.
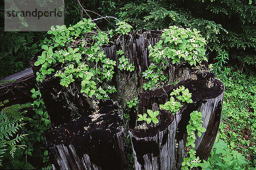
[[[9,99],[9,104],[32,102],[30,90],[35,88],[35,75],[32,68],[0,79],[0,81],[8,80],[15,81],[0,85],[0,101]]]

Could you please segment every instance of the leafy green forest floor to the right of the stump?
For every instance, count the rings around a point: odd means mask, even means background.
[[[239,169],[239,164],[256,170],[256,74],[236,71],[218,78],[225,85],[221,124],[204,170],[209,164],[221,170]]]

